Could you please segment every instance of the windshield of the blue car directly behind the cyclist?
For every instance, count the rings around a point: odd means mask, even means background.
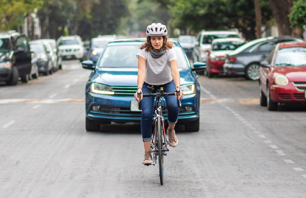
[[[181,47],[174,47],[177,55],[177,63],[179,68],[188,68],[188,63]],[[137,45],[113,45],[106,46],[100,57],[98,67],[138,67],[138,59],[136,54],[139,50]]]

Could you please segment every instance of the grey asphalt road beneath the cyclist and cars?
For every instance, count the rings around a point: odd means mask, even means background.
[[[143,166],[139,124],[85,130],[90,71],[77,61],[0,85],[0,197],[306,197],[306,108],[259,106],[258,83],[201,75],[200,131]]]

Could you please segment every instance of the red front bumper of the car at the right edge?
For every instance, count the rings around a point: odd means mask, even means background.
[[[306,102],[305,90],[298,89],[292,82],[287,86],[271,85],[270,94],[274,102]]]

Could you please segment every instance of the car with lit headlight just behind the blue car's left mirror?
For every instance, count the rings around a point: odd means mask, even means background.
[[[108,36],[99,36],[97,38],[91,39],[90,47],[87,50],[86,53],[86,59],[91,60],[94,64],[97,63],[98,58],[103,50],[103,48],[110,42],[111,40],[114,40],[115,37],[110,35]]]

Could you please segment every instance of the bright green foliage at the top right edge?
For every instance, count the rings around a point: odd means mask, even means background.
[[[302,29],[303,25],[306,25],[306,0],[293,2],[289,20],[291,22],[291,27]]]

